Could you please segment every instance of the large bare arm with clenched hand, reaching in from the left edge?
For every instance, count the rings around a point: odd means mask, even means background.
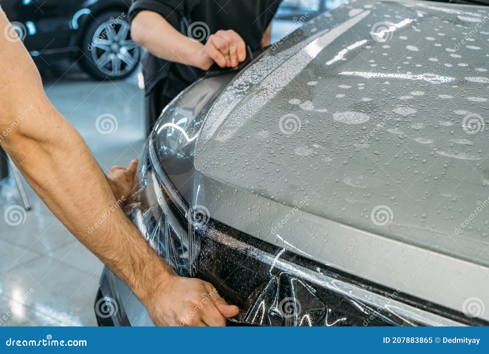
[[[0,28],[6,26],[0,11]],[[202,303],[202,292],[213,301],[185,324],[223,325],[224,317],[235,315],[238,308],[227,305],[210,283],[178,277],[124,213],[113,208],[116,201],[105,175],[80,134],[45,95],[20,41],[0,36],[0,68],[1,146],[67,229],[131,287],[155,324],[178,325]],[[111,209],[110,217],[94,228]]]

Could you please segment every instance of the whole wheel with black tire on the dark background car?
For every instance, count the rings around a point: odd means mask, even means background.
[[[98,80],[121,79],[139,65],[140,48],[131,39],[131,25],[119,11],[99,14],[83,34],[80,65]]]

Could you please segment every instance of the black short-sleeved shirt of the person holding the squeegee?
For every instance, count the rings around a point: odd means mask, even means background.
[[[263,33],[281,1],[133,0],[129,19],[132,21],[139,11],[154,11],[163,16],[180,33],[186,36],[190,34],[197,40],[200,40],[202,35],[206,38],[220,29],[233,29],[251,50],[257,50],[260,48]],[[205,33],[207,28],[208,33]],[[185,64],[159,59],[150,53],[143,65],[146,93],[151,92],[161,80],[169,79],[171,85],[165,85],[167,87],[165,95],[170,98],[197,80],[203,72]]]

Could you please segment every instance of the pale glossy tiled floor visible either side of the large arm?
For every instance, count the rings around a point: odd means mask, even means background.
[[[44,71],[44,88],[54,105],[85,138],[101,168],[127,165],[144,142],[138,76],[97,82],[77,66]],[[63,74],[66,70],[67,73]],[[117,130],[101,135],[95,120],[109,113]],[[21,205],[11,176],[0,185],[0,326],[94,326],[93,302],[103,264],[44,206],[24,182],[32,210],[17,226],[4,212]]]

